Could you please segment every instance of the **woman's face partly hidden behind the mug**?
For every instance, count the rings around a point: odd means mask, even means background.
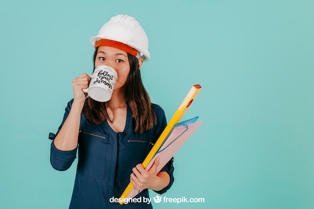
[[[109,66],[117,72],[118,79],[114,85],[114,90],[118,90],[125,85],[130,73],[130,64],[126,52],[113,47],[99,47],[96,54],[95,68],[100,65]]]

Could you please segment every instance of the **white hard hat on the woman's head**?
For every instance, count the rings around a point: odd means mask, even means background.
[[[138,51],[137,58],[150,59],[146,33],[133,17],[127,15],[112,17],[101,27],[97,36],[90,38],[90,43],[95,46],[96,42],[101,39],[126,44]]]

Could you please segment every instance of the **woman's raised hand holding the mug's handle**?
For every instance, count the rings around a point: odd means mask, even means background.
[[[83,73],[72,80],[74,101],[85,102],[87,94],[83,92],[83,89],[88,88],[90,79],[89,75]]]

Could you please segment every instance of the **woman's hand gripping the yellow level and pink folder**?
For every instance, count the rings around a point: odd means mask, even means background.
[[[157,168],[159,165],[159,157],[157,157],[151,168],[147,171],[143,168],[142,164],[137,164],[133,169],[133,173],[130,177],[130,182],[134,188],[141,189],[153,189],[156,191],[162,190],[170,182],[170,176],[167,172],[163,171],[158,173]]]

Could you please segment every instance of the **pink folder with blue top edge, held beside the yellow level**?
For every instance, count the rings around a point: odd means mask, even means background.
[[[150,160],[145,170],[149,170],[156,157],[159,157],[160,161],[157,170],[160,171],[182,147],[182,145],[190,138],[190,136],[192,136],[192,134],[202,125],[201,121],[195,122],[197,119],[198,117],[195,117],[176,124],[167,139],[164,141],[163,145]],[[133,187],[126,197],[132,198],[139,192],[141,192],[141,190],[137,190]]]

